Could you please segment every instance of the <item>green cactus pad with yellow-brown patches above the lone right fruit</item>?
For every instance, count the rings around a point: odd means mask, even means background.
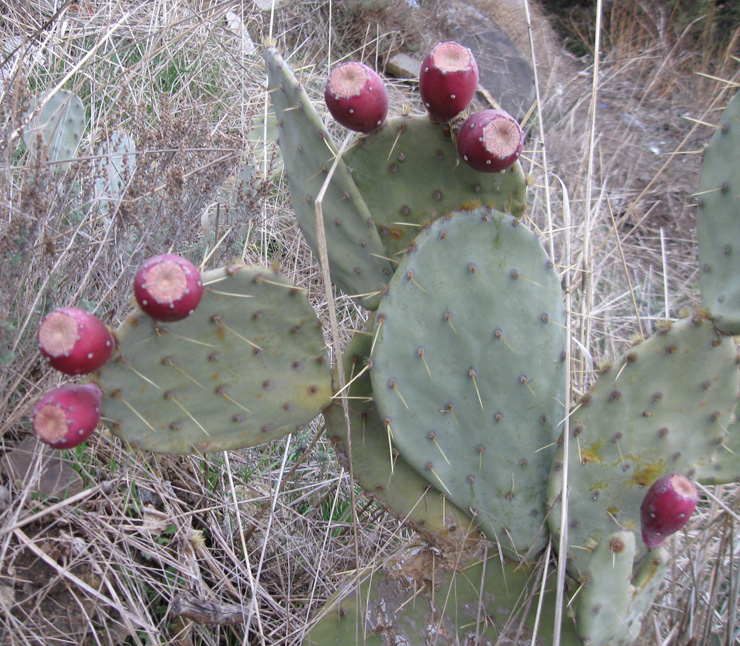
[[[574,576],[605,536],[639,528],[642,498],[660,476],[712,471],[726,451],[739,387],[734,342],[700,316],[661,326],[599,377],[571,416],[568,558]],[[563,458],[561,446],[548,497],[556,537]],[[638,558],[644,551],[638,537]]]

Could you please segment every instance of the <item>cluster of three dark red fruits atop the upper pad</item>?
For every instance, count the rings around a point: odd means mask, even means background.
[[[470,105],[478,88],[478,64],[459,43],[437,45],[421,64],[419,92],[434,121],[449,121]],[[338,123],[356,132],[382,127],[388,115],[383,79],[364,63],[342,63],[332,70],[324,91],[326,106]],[[503,110],[470,115],[457,132],[457,150],[472,168],[498,173],[522,152],[524,134],[516,119]]]

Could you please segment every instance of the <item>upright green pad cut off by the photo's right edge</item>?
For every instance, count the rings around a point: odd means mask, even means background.
[[[696,237],[701,295],[724,334],[740,334],[740,94],[704,152]]]

